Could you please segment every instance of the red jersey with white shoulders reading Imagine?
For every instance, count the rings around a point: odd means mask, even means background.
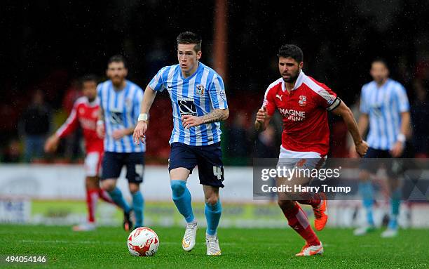
[[[276,108],[282,115],[282,146],[286,150],[325,156],[329,151],[327,110],[333,110],[340,102],[325,84],[301,71],[290,93],[282,78],[268,86],[263,105],[269,116]]]

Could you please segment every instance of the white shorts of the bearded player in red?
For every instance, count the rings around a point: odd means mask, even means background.
[[[322,157],[320,153],[308,151],[299,152],[286,150],[280,146],[280,155],[278,155],[277,166],[285,166],[287,169],[298,167],[301,169],[319,169],[326,161],[326,156]]]

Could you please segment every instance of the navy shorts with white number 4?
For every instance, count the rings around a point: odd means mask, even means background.
[[[193,146],[184,143],[172,143],[168,171],[183,167],[191,173],[198,165],[200,184],[224,188],[224,164],[220,143]]]

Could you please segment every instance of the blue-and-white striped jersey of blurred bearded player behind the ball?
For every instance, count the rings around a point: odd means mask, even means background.
[[[135,145],[132,135],[114,140],[114,130],[134,127],[140,114],[140,104],[143,100],[143,90],[127,80],[125,88],[115,91],[111,80],[97,86],[97,95],[104,111],[104,151],[106,152],[145,152],[146,145]]]

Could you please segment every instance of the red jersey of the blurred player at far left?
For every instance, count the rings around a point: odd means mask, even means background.
[[[96,131],[98,110],[100,110],[100,101],[98,98],[92,103],[85,96],[78,98],[74,102],[73,109],[67,121],[58,129],[57,136],[63,138],[76,130],[78,124],[81,124],[86,153],[93,151],[103,152],[103,138],[99,138]]]

